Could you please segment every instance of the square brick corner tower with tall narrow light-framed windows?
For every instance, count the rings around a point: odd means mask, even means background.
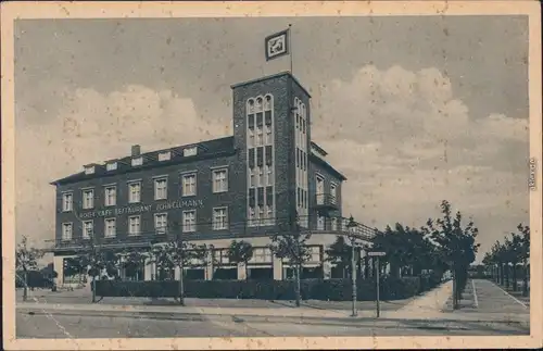
[[[310,95],[288,72],[233,90],[233,143],[244,170],[250,227],[270,227],[298,212],[307,226]],[[241,183],[242,180],[239,179]]]

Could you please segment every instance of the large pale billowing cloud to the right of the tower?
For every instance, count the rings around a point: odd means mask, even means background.
[[[447,199],[478,220],[482,251],[528,221],[526,168],[513,162],[528,158],[528,118],[470,118],[437,68],[367,65],[324,83],[314,100],[313,138],[349,178],[345,213],[420,226]]]

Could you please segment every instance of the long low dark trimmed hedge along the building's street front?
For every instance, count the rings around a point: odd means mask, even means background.
[[[400,300],[416,296],[435,287],[440,278],[386,277],[380,284],[380,297],[383,300]],[[178,296],[179,281],[115,281],[98,280],[99,297],[151,297],[173,298]],[[352,299],[350,279],[304,279],[301,281],[301,294],[304,300],[346,301]],[[185,297],[200,299],[261,299],[293,300],[293,280],[186,280]],[[376,284],[372,279],[357,281],[357,298],[361,301],[374,300]]]

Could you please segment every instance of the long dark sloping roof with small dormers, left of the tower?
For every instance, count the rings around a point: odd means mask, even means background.
[[[184,156],[182,150],[197,147],[198,153],[193,156]],[[159,153],[171,151],[171,160],[168,161],[159,161]],[[166,166],[179,163],[188,163],[194,162],[199,160],[213,159],[224,155],[231,155],[236,152],[233,148],[233,136],[206,140],[192,145],[185,145],[173,147],[168,149],[155,150],[151,152],[141,153],[140,156],[143,158],[143,164],[141,166],[131,166],[131,155],[121,158],[121,159],[112,159],[104,162],[104,164],[91,164],[96,166],[94,173],[85,174],[85,172],[79,172],[76,174],[72,174],[67,177],[54,180],[51,185],[62,185],[68,184],[79,180],[93,179],[102,176],[113,176],[118,174],[124,174],[128,172],[137,172],[141,170],[148,170],[159,166]],[[117,162],[117,170],[106,171],[105,165],[111,162]]]

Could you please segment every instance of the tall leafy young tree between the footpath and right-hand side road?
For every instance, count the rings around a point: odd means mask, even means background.
[[[469,265],[475,261],[480,245],[476,242],[479,230],[473,222],[463,226],[462,213],[458,211],[453,217],[451,208],[451,203],[443,200],[442,217],[437,221],[428,220],[424,230],[438,245],[440,254],[453,272],[453,306],[457,309],[466,286]]]

